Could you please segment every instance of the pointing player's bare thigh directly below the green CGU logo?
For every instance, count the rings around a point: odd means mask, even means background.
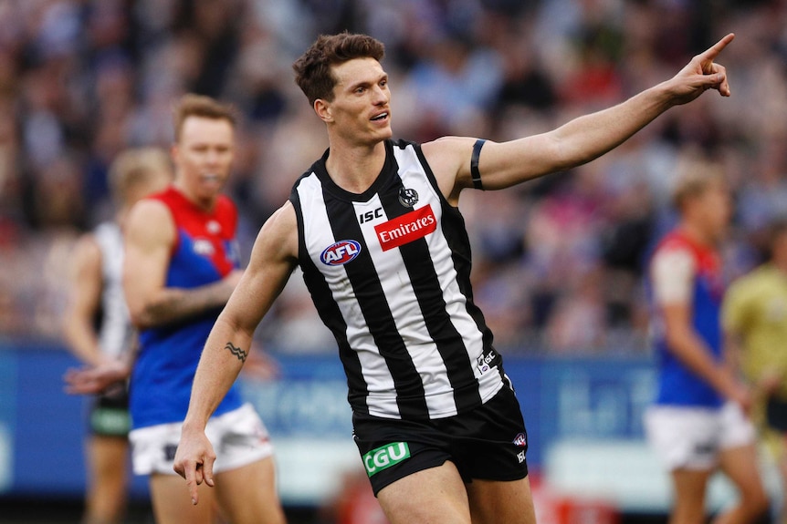
[[[391,524],[470,524],[465,483],[453,462],[400,478],[377,499]]]

